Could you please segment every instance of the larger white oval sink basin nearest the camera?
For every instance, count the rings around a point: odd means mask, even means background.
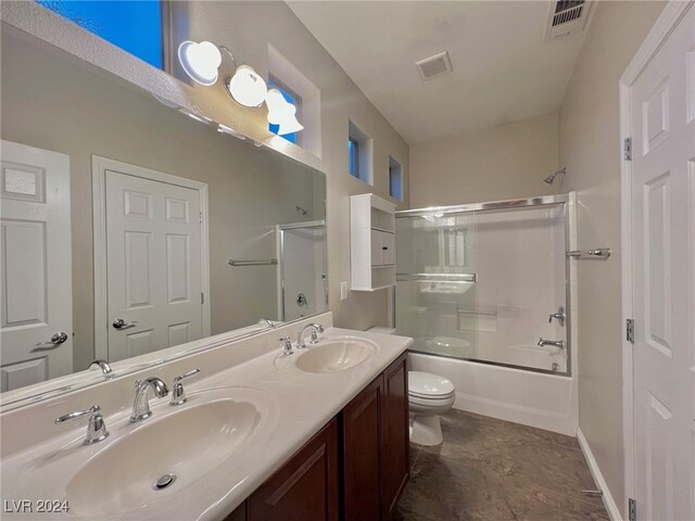
[[[127,417],[112,422],[111,436],[89,448],[76,441],[38,458],[16,482],[17,497],[63,498],[71,518],[147,518],[230,457],[244,460],[278,417],[275,401],[251,387],[208,389],[188,398],[178,407],[161,401],[138,424]],[[175,478],[155,487],[166,474]]]

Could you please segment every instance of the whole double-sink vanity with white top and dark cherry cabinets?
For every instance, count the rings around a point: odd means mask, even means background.
[[[391,519],[408,479],[412,339],[311,321],[326,332],[291,355],[278,339],[308,319],[3,411],[3,519],[45,518],[20,499],[68,506],[51,519]],[[186,403],[150,398],[129,421],[136,380],[191,369]],[[87,418],[54,424],[94,405],[103,441],[84,444]]]

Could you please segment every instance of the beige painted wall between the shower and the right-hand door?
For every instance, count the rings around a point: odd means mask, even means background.
[[[559,112],[559,164],[568,168],[566,188],[578,192],[578,244],[612,250],[605,263],[578,263],[579,427],[620,508],[627,501],[621,414],[624,325],[620,316],[618,81],[664,5],[596,2]]]

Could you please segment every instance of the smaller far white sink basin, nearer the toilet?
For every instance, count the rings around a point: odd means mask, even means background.
[[[309,346],[296,359],[296,367],[306,372],[340,372],[368,360],[377,344],[356,336],[332,338]]]

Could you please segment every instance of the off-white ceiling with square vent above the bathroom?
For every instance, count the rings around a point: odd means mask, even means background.
[[[585,31],[544,42],[549,3],[288,0],[408,143],[556,112]],[[454,72],[422,80],[444,50]]]

